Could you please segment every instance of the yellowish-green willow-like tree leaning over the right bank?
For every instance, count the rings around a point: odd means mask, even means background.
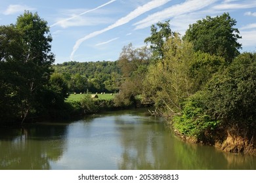
[[[190,63],[195,59],[190,42],[175,33],[163,44],[163,59],[150,65],[144,81],[143,98],[168,116],[181,112],[181,102],[190,95]]]

